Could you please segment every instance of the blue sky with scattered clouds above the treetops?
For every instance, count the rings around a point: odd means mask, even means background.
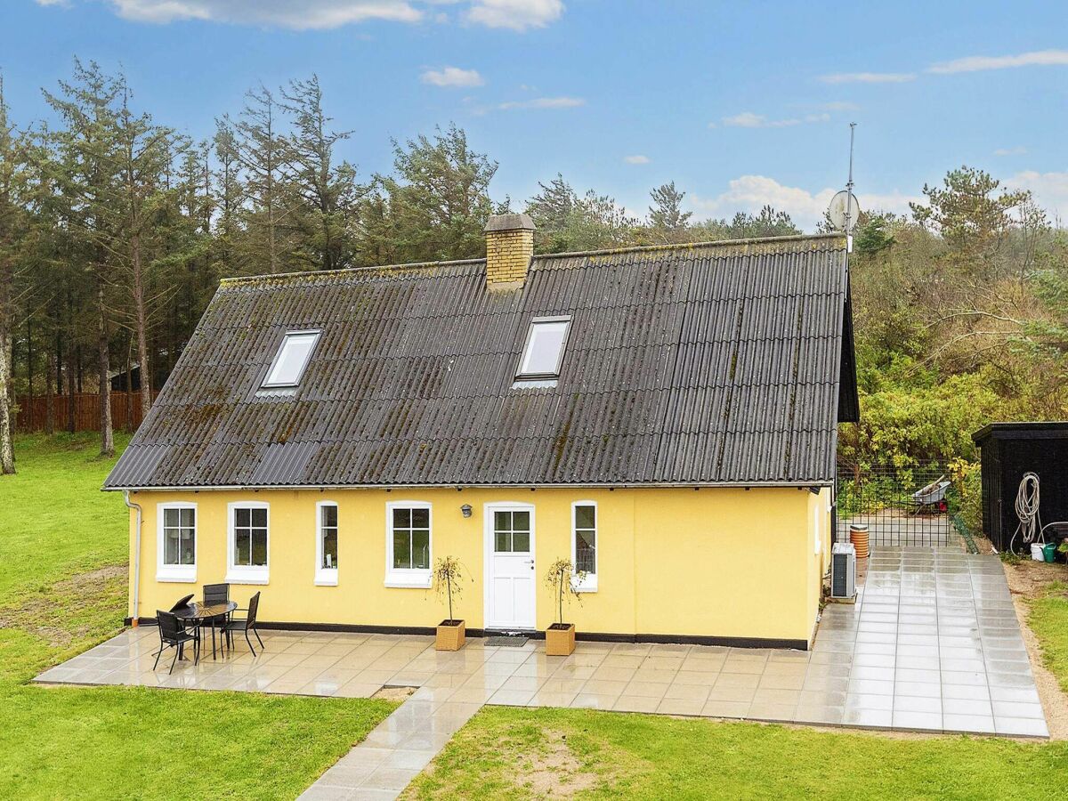
[[[1064,2],[3,0],[15,119],[72,58],[127,73],[193,137],[244,92],[316,73],[366,177],[391,137],[455,122],[515,205],[562,172],[644,214],[674,179],[697,217],[771,203],[812,226],[846,179],[902,211],[967,163],[1068,217]]]

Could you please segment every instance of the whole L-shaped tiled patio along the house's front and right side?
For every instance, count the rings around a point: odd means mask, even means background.
[[[541,641],[439,653],[429,637],[262,634],[255,658],[242,642],[169,676],[164,660],[152,670],[156,629],[131,629],[36,680],[343,697],[402,686],[460,705],[1048,736],[1001,565],[957,548],[876,549],[857,604],[824,610],[811,651],[580,642],[548,657]]]

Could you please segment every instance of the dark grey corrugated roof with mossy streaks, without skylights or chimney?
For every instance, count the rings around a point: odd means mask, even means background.
[[[828,483],[847,285],[841,236],[536,256],[512,292],[481,260],[224,281],[105,488]],[[560,314],[556,386],[513,388]],[[260,390],[305,328],[300,387]]]

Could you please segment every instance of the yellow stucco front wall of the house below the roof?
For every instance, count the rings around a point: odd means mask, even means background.
[[[151,617],[201,585],[225,580],[227,504],[270,504],[269,583],[232,582],[241,606],[263,591],[261,619],[376,626],[436,625],[444,607],[433,590],[384,586],[386,504],[433,504],[433,556],[451,554],[470,575],[458,614],[484,625],[484,508],[489,502],[535,507],[537,626],[553,621],[543,577],[571,555],[571,504],[598,504],[598,588],[570,601],[566,617],[579,631],[810,640],[820,578],[829,560],[829,490],[797,488],[643,489],[347,489],[132,492],[143,511],[139,609]],[[339,504],[339,579],[317,586],[316,507]],[[197,504],[198,565],[192,583],[160,582],[157,504]],[[470,504],[464,518],[460,506]],[[130,516],[134,552],[136,516]],[[821,539],[815,552],[815,538]],[[130,582],[134,569],[131,559]]]

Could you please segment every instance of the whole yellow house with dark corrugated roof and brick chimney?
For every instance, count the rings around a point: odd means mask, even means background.
[[[108,477],[131,618],[200,585],[264,626],[804,648],[855,420],[841,235],[223,281]]]

